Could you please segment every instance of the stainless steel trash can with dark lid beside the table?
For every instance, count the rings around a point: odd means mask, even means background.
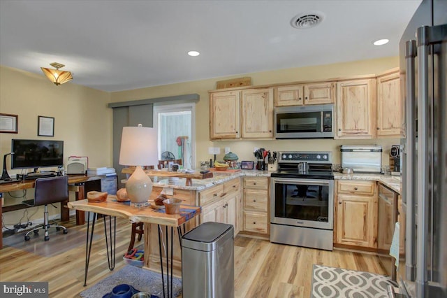
[[[234,227],[204,222],[182,237],[184,298],[235,296]]]

